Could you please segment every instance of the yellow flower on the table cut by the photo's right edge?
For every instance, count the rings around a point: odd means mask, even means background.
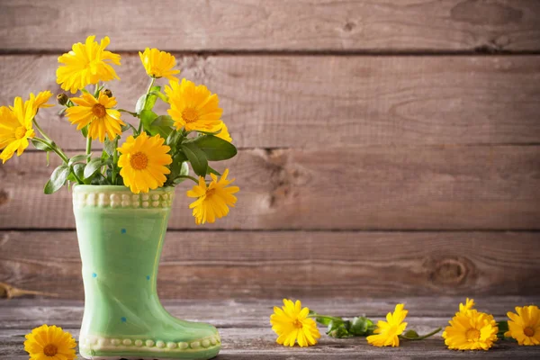
[[[519,345],[540,345],[540,310],[536,305],[516,307],[509,311],[509,331],[504,336],[515,338]]]

